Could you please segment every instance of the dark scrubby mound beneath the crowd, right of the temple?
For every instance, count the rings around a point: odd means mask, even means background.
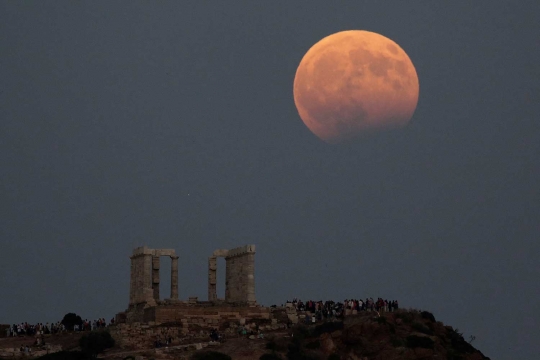
[[[288,339],[272,338],[261,360],[340,358],[488,359],[451,326],[427,311],[361,312],[343,321],[298,325]]]

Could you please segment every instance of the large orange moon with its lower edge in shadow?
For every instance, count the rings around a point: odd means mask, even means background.
[[[313,45],[294,78],[300,118],[328,143],[405,126],[418,91],[418,76],[405,51],[363,30],[338,32]]]

